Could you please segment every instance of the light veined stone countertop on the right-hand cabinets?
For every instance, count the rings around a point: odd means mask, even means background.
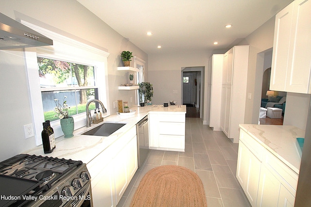
[[[299,175],[301,158],[296,147],[296,138],[304,137],[305,130],[283,125],[239,126]]]

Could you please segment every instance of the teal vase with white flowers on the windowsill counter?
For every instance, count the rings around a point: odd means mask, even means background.
[[[65,101],[65,98],[67,98],[67,96],[64,97],[63,104],[60,104],[59,100],[57,98],[54,98],[54,102],[56,104],[55,112],[60,118],[60,126],[65,135],[64,137],[70,138],[73,137],[74,121],[73,117],[69,116],[69,107],[66,103],[67,101]]]

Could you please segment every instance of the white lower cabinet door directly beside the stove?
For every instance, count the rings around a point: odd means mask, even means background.
[[[113,207],[115,203],[115,183],[112,174],[113,165],[110,162],[92,179],[92,198],[94,207]]]

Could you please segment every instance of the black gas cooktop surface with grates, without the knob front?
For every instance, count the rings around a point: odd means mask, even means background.
[[[20,154],[0,162],[0,206],[22,206],[50,190],[82,161]]]

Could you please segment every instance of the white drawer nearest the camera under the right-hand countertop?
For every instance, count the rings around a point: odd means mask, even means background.
[[[295,195],[298,175],[269,151],[265,152],[263,163],[271,173],[275,174],[284,187]]]

